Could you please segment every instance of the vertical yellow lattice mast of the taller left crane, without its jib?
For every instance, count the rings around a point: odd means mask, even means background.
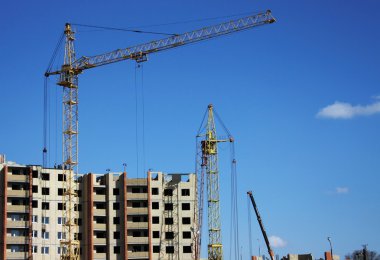
[[[75,60],[74,32],[65,26],[65,57],[58,85],[63,87],[63,183],[64,210],[62,225],[66,239],[61,241],[61,259],[77,260],[80,254],[78,240],[78,73],[73,69]]]

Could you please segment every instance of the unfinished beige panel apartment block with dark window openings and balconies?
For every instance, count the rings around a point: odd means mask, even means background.
[[[0,259],[60,259],[61,167],[0,161]],[[193,259],[195,174],[84,174],[78,178],[76,233],[81,259]]]

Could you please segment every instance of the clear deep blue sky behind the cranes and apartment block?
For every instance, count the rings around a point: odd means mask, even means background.
[[[129,61],[81,75],[80,171],[121,171],[125,162],[130,176],[144,176],[144,168],[193,172],[195,134],[213,103],[236,139],[243,258],[248,190],[254,191],[268,234],[285,241],[275,248],[280,256],[322,257],[328,236],[341,257],[362,244],[380,252],[380,3],[375,0],[3,2],[0,153],[19,163],[42,163],[43,74],[66,22],[180,33],[223,19],[144,26],[266,9],[277,23],[153,54],[136,72]],[[78,56],[157,38],[79,27],[77,32]],[[61,90],[54,83],[51,78],[50,165],[61,157],[56,135]],[[227,146],[220,160],[222,208],[228,209]],[[228,218],[222,218],[226,256]],[[264,251],[252,223],[255,253],[257,238]]]

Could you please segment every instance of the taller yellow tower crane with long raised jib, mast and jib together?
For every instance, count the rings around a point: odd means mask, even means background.
[[[144,62],[148,54],[160,52],[175,47],[188,45],[195,42],[247,30],[265,24],[274,23],[275,19],[271,11],[238,18],[213,26],[204,27],[179,35],[135,45],[128,48],[117,49],[95,56],[83,56],[76,58],[74,49],[74,31],[71,24],[67,23],[64,29],[65,56],[64,63],[59,70],[48,69],[45,77],[59,75],[57,84],[63,87],[63,183],[65,193],[63,211],[65,224],[63,231],[66,238],[61,241],[61,259],[77,260],[80,255],[80,243],[77,237],[78,205],[77,177],[78,177],[78,76],[83,71],[103,65],[123,61],[135,60]],[[44,149],[46,153],[46,149]],[[218,258],[221,259],[221,258]]]

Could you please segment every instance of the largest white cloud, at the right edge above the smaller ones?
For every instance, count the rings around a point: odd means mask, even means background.
[[[369,105],[356,105],[353,106],[350,103],[344,103],[336,101],[334,104],[322,108],[317,117],[319,118],[333,118],[333,119],[350,119],[356,116],[370,116],[380,113],[380,100],[379,97],[375,97],[377,100],[373,104]]]

